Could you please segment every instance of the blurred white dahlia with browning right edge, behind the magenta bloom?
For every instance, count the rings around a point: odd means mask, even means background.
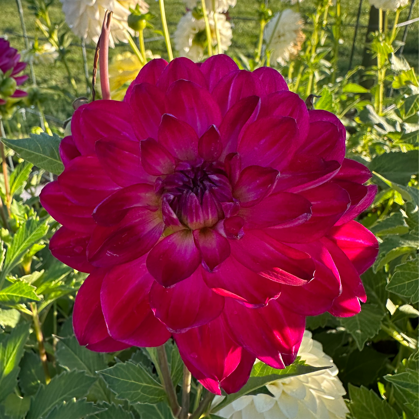
[[[298,54],[304,42],[304,21],[300,13],[291,9],[278,12],[266,25],[264,40],[271,51],[271,64],[275,61],[285,65]]]

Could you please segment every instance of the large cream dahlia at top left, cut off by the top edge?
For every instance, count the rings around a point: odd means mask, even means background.
[[[86,42],[99,40],[106,10],[112,10],[111,36],[109,45],[113,48],[115,42],[128,42],[125,31],[134,34],[127,20],[129,8],[138,3],[141,13],[147,13],[148,5],[144,0],[60,0],[65,21],[72,31]]]

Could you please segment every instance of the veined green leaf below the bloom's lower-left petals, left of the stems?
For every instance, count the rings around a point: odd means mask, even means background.
[[[100,373],[118,398],[131,403],[155,404],[166,397],[163,386],[141,364],[120,362]]]

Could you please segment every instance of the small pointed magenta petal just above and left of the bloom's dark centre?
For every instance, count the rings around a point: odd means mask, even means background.
[[[173,115],[163,115],[158,129],[158,142],[179,160],[189,161],[198,157],[197,133]]]

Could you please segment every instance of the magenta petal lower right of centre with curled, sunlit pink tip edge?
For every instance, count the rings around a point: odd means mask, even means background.
[[[300,286],[311,281],[314,261],[308,253],[277,242],[264,232],[246,232],[230,241],[231,254],[246,268],[281,284]]]

